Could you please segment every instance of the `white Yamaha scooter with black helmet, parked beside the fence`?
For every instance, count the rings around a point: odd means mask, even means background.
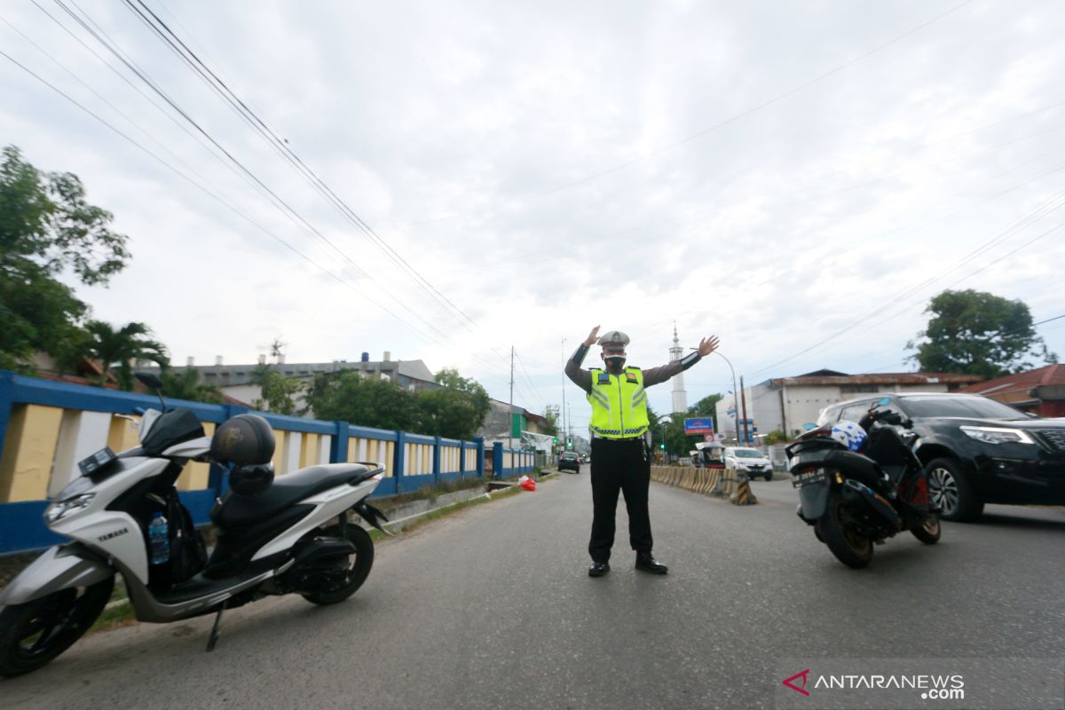
[[[157,392],[152,375],[137,379]],[[162,396],[160,396],[162,401]],[[40,555],[0,594],[0,675],[45,665],[88,629],[120,573],[136,617],[175,622],[222,613],[266,595],[296,593],[318,605],[342,601],[374,563],[366,531],[388,518],[365,502],[382,477],[377,464],[335,463],[274,480],[274,434],[241,414],[213,437],[189,410],[148,410],[141,446],[81,462],[82,476],[45,511],[48,527],[72,539]],[[217,544],[210,557],[175,481],[191,461],[230,468],[230,491],[214,506]]]

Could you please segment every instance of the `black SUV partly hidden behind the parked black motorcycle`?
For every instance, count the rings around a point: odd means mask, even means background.
[[[947,521],[980,517],[985,502],[1065,505],[1065,418],[1039,419],[980,395],[880,394],[821,410],[818,424],[897,411],[920,435],[917,456]]]

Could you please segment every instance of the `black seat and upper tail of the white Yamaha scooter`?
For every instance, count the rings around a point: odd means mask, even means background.
[[[259,495],[242,496],[230,491],[211,510],[211,522],[223,528],[261,523],[323,491],[358,485],[378,470],[362,463],[326,463],[284,474]]]

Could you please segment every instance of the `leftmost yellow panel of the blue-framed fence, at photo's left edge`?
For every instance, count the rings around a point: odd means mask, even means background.
[[[0,459],[0,502],[48,497],[62,420],[63,410],[54,407],[12,407]]]

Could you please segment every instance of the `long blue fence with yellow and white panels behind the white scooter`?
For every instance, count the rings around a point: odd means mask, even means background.
[[[167,399],[167,406],[191,410],[209,435],[218,424],[250,411],[178,399]],[[158,409],[159,399],[0,370],[0,555],[58,542],[42,517],[48,499],[80,475],[80,460],[104,446],[115,451],[136,446],[136,410],[147,408]],[[496,478],[509,477],[530,472],[535,463],[535,452],[499,444],[486,453],[479,437],[458,441],[346,422],[256,414],[274,429],[277,475],[317,463],[376,463],[384,468],[384,479],[375,497],[484,478],[488,468]],[[181,498],[197,524],[208,522],[225,485],[222,468],[206,463],[190,463],[178,479]]]

